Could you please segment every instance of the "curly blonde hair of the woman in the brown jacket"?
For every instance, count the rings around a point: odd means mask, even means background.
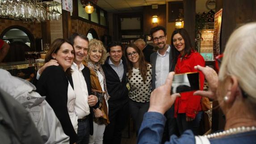
[[[88,45],[88,57],[85,58],[85,61],[88,62],[89,60],[89,56],[90,53],[93,49],[96,48],[101,48],[102,52],[101,52],[101,59],[98,62],[100,65],[104,64],[105,60],[106,60],[106,49],[103,45],[103,43],[97,39],[92,39],[91,41],[89,41],[89,45]]]

